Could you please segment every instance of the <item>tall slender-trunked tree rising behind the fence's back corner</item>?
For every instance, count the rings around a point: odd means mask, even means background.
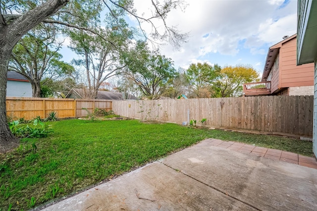
[[[84,70],[81,88],[85,89],[85,98],[95,99],[100,86],[124,67],[119,58],[128,49],[133,32],[123,19],[116,20],[119,26],[113,26],[111,18],[107,16],[109,25],[106,28],[98,29],[103,38],[83,30],[69,31],[70,49],[81,56],[72,62]]]

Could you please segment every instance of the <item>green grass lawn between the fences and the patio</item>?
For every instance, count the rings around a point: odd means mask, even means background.
[[[0,154],[0,210],[28,210],[162,158],[205,138],[313,156],[312,143],[139,120],[49,122],[54,134]],[[35,143],[37,149],[34,151]],[[229,155],[228,155],[229,156]]]

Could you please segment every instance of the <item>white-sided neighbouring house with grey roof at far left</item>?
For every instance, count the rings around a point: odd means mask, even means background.
[[[6,97],[32,97],[30,81],[20,73],[8,71]]]

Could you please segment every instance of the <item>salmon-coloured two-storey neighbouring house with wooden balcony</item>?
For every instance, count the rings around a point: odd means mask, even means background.
[[[296,65],[297,35],[268,49],[261,82],[243,85],[244,96],[314,95],[314,63]]]

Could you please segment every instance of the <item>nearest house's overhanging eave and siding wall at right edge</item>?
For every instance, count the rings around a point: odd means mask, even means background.
[[[297,64],[314,62],[314,129],[313,152],[317,156],[317,1],[298,0],[297,10]]]

